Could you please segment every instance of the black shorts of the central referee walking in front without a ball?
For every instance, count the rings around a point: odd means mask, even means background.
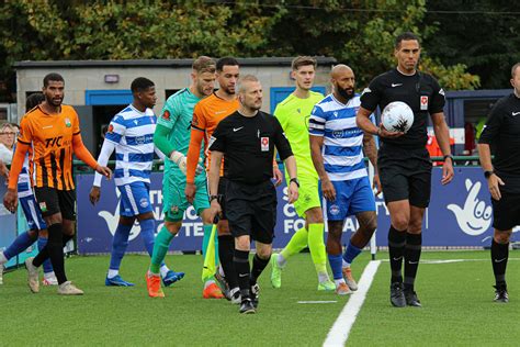
[[[228,181],[226,213],[233,236],[249,235],[262,244],[272,244],[276,203],[276,190],[271,181],[256,186]]]

